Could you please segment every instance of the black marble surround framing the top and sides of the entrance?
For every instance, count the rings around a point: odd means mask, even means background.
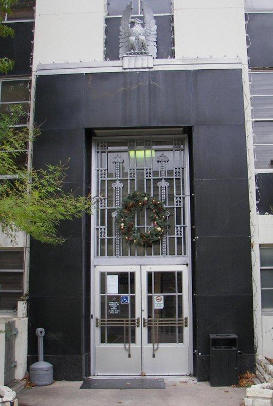
[[[238,334],[240,350],[245,355],[241,368],[244,369],[244,362],[249,366],[254,348],[241,71],[146,71],[41,76],[37,80],[36,122],[41,125],[43,135],[35,151],[35,164],[44,165],[48,158],[57,162],[70,156],[68,186],[74,185],[79,190],[86,190],[90,183],[86,177],[86,163],[90,162],[86,151],[90,147],[83,139],[84,128],[193,128],[190,160],[194,194],[195,373],[200,380],[208,379],[210,333]],[[87,131],[89,141],[91,135],[92,131]],[[67,300],[65,292],[71,297],[75,303],[75,311],[71,314],[71,335],[75,336],[73,357],[82,356],[86,363],[89,292],[88,287],[85,289],[88,272],[84,269],[88,268],[90,234],[82,231],[86,230],[85,221],[65,225],[64,230],[69,236],[67,245],[54,250],[35,245],[31,290],[34,302],[41,297],[43,303],[47,300],[51,303],[55,297],[56,309],[59,297]],[[77,247],[72,257],[68,251],[73,250],[71,244],[74,241]],[[80,257],[80,252],[85,252],[85,255]],[[66,253],[67,259],[62,260]],[[38,267],[40,270],[35,273]],[[45,277],[47,272],[52,272],[48,278]],[[59,286],[64,275],[69,280]],[[39,285],[41,279],[44,286]],[[55,296],[51,287],[54,281]],[[81,297],[83,291],[86,295],[84,299]],[[34,313],[31,315],[32,328],[38,316],[42,324],[44,321],[46,325],[49,321],[48,315],[42,309],[39,310],[39,305],[37,309],[33,308]],[[60,309],[64,311],[64,307]],[[59,342],[54,338],[60,336],[65,340],[67,325],[64,322],[62,327],[59,315],[52,313],[51,317],[56,318],[57,322],[52,324],[54,328],[48,338],[51,343],[48,343],[50,352],[47,355],[56,360],[63,356],[67,361],[68,352],[62,353]],[[81,325],[78,322],[80,318],[84,320]],[[70,339],[67,339],[66,346],[69,346]],[[31,349],[31,354],[34,354],[34,342]],[[64,365],[67,365],[66,361]],[[57,365],[57,376],[64,376],[61,364],[58,362]],[[81,373],[79,371],[79,375]]]

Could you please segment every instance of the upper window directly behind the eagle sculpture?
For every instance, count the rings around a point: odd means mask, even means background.
[[[105,18],[105,59],[119,60],[119,34],[121,16],[129,0],[108,0]],[[157,25],[157,58],[174,58],[173,2],[172,0],[146,0],[153,11]],[[132,15],[143,18],[142,0],[132,0]]]

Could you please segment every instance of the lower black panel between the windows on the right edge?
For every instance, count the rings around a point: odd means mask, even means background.
[[[259,214],[273,212],[273,174],[258,173],[256,175],[256,200]]]

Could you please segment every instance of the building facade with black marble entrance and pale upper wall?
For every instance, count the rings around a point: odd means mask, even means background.
[[[209,334],[236,334],[244,372],[256,353],[272,355],[273,9],[146,1],[156,55],[123,57],[128,2],[36,1],[29,125],[42,135],[33,165],[69,158],[67,190],[95,204],[91,218],[63,225],[61,247],[32,240],[29,253],[25,244],[28,361],[44,327],[56,379],[208,380]],[[142,2],[132,7],[147,24]],[[117,226],[135,191],[166,208],[159,243],[130,243]],[[149,210],[135,222],[149,232]]]

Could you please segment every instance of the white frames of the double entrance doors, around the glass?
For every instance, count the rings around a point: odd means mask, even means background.
[[[102,344],[100,341],[100,326],[96,325],[95,333],[95,360],[98,362],[93,371],[94,375],[188,375],[191,373],[189,324],[183,326],[182,343],[161,343],[154,345],[148,343],[148,327],[144,320],[148,320],[148,272],[182,272],[182,319],[189,320],[188,300],[188,267],[186,265],[153,265],[153,266],[97,266],[95,269],[95,312],[93,320],[103,323],[101,319],[101,272],[134,272],[135,278],[135,319],[141,324],[135,327],[135,342],[129,347],[120,344]],[[106,294],[106,287],[105,292]],[[118,295],[120,293],[117,292]],[[129,293],[130,294],[130,293]],[[151,292],[150,292],[151,294]],[[149,295],[150,295],[149,294]],[[170,293],[171,294],[171,293]],[[177,291],[176,294],[179,294]],[[166,293],[168,296],[168,293]],[[178,303],[178,302],[176,302]],[[178,317],[181,317],[178,316]],[[106,317],[106,316],[105,316]],[[111,319],[109,319],[111,320]],[[151,319],[149,319],[151,320]],[[163,321],[163,319],[161,319]],[[111,321],[110,321],[111,322]],[[128,347],[128,348],[125,348]],[[130,352],[130,358],[129,352]],[[127,353],[128,352],[128,353]],[[107,355],[108,354],[108,355]],[[112,361],[110,361],[112,359]],[[113,365],[113,367],[111,367]]]

